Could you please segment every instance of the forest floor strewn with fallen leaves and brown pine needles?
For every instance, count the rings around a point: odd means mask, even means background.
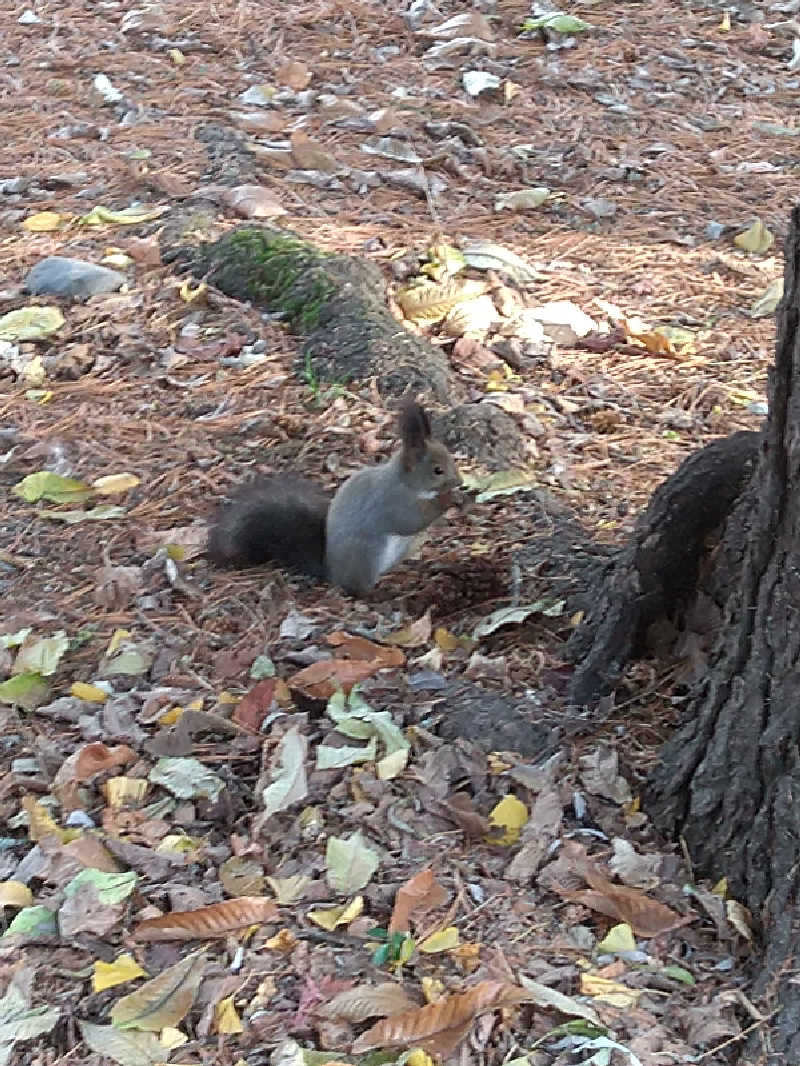
[[[473,402],[535,426],[528,473],[598,540],[621,544],[683,458],[764,416],[800,135],[793,5],[576,0],[590,28],[570,39],[521,36],[516,0],[414,7],[416,26],[395,0],[5,5],[0,316],[54,303],[21,288],[51,255],[107,259],[127,285],[62,302],[43,339],[0,321],[0,677],[39,675],[0,688],[0,1062],[355,1063],[374,1045],[714,1066],[742,1030],[768,1039],[735,901],[687,888],[690,857],[637,801],[679,664],[637,664],[565,730],[575,619],[469,639],[510,601],[525,494],[439,523],[371,603],[202,554],[254,468],[331,485],[393,441],[369,383],[304,377],[279,322],[162,261],[171,226],[213,239],[254,205],[373,259],[389,294],[434,240],[480,239],[534,268],[525,304],[623,328],[518,373],[459,366],[433,332]],[[429,31],[458,15],[476,39],[434,59],[448,31]],[[465,70],[498,88],[471,97]],[[237,215],[226,190],[244,184]],[[541,206],[495,209],[532,187]],[[131,206],[157,216],[86,220]],[[12,491],[37,471],[131,487],[67,521]],[[481,559],[508,595],[443,617],[426,598],[443,559]],[[331,648],[334,676],[371,679],[340,730],[320,698]],[[465,683],[551,743],[444,739]],[[142,925],[170,911],[195,914]],[[367,936],[393,914],[407,938]]]

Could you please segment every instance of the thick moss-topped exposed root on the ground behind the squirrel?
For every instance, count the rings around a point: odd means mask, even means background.
[[[242,226],[191,253],[192,271],[226,295],[281,314],[302,340],[301,369],[346,385],[374,378],[450,404],[464,388],[442,351],[402,327],[371,262],[329,254],[286,230]]]

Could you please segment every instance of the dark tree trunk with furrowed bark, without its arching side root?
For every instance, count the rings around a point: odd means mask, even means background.
[[[800,208],[786,240],[769,419],[716,565],[736,574],[706,679],[646,809],[695,870],[726,876],[763,937],[756,995],[778,1011],[748,1066],[800,1063]]]

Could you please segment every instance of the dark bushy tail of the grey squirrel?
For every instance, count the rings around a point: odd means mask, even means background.
[[[275,562],[317,578],[325,576],[327,492],[289,474],[242,485],[218,512],[208,554],[218,566]]]

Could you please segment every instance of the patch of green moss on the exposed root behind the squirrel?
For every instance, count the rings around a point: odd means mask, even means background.
[[[307,333],[336,291],[325,256],[297,237],[269,229],[239,229],[218,248],[222,274],[236,271],[247,297],[286,316],[293,329]]]

